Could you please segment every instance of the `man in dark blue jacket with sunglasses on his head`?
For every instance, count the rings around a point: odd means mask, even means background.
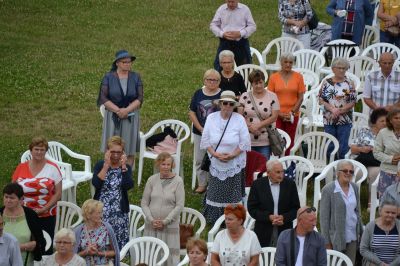
[[[316,224],[314,207],[306,206],[297,211],[296,228],[285,230],[279,236],[275,254],[277,266],[327,265],[325,239],[314,231]]]

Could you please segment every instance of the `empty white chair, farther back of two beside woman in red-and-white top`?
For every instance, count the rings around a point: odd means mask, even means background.
[[[93,173],[91,170],[90,156],[74,152],[60,142],[49,141],[49,150],[47,151],[48,155],[50,155],[56,161],[64,162],[63,153],[65,153],[66,155],[68,155],[69,157],[71,157],[75,160],[82,161],[82,163],[84,164],[84,167],[81,170],[72,169],[72,180],[76,184],[76,186],[74,186],[74,189],[73,189],[74,197],[76,197],[76,188],[77,188],[78,184],[82,183],[82,182],[87,182],[87,181],[89,181],[90,193],[93,197],[94,196],[94,187],[93,187],[92,183],[90,182],[93,177]]]

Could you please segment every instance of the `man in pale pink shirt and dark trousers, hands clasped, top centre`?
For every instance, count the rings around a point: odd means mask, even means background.
[[[238,0],[226,0],[215,12],[210,29],[220,40],[214,61],[216,70],[221,70],[219,53],[222,50],[231,50],[238,66],[252,62],[248,38],[256,31],[256,23],[246,5]]]

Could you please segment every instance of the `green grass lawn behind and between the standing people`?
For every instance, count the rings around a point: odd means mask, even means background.
[[[167,118],[190,124],[191,96],[212,67],[218,44],[209,23],[222,2],[0,0],[0,186],[10,181],[33,136],[90,155],[93,165],[102,158],[96,99],[102,76],[122,48],[137,56],[133,69],[144,83],[141,130]],[[262,51],[280,36],[278,0],[243,2],[257,23],[251,46]],[[327,3],[313,1],[321,21],[330,23]],[[133,204],[139,204],[151,163],[146,161],[142,186],[130,192]],[[189,141],[184,165],[186,206],[200,209],[201,196],[190,189]],[[80,204],[88,191],[80,187]]]

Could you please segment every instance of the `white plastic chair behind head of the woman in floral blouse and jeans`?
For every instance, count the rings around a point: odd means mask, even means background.
[[[323,57],[328,52],[331,52],[332,60],[336,57],[343,57],[346,59],[350,58],[350,55],[356,56],[360,54],[360,48],[352,41],[344,40],[344,39],[337,39],[328,42],[322,47],[320,53]],[[325,62],[325,64],[328,62]],[[331,66],[326,65],[321,69],[322,74],[329,74],[332,72]]]

